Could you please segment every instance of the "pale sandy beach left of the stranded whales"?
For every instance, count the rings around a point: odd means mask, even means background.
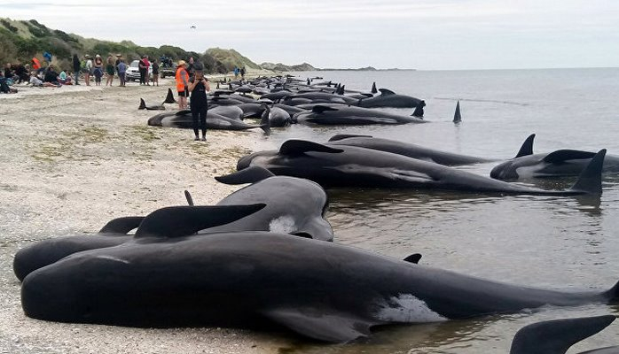
[[[114,82],[118,85],[118,81]],[[257,353],[276,352],[281,337],[224,328],[149,329],[77,325],[27,318],[12,259],[50,237],[97,232],[110,219],[185,204],[215,204],[239,187],[213,177],[264,139],[262,131],[208,131],[193,142],[184,129],[149,127],[160,87],[20,87],[0,96],[0,352]],[[168,110],[176,110],[168,104]]]

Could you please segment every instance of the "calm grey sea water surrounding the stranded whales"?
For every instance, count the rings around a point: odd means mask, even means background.
[[[404,126],[274,129],[261,149],[287,139],[325,142],[361,134],[486,158],[513,158],[524,139],[534,151],[558,149],[619,155],[619,68],[492,71],[307,72],[348,89],[378,88],[424,99],[430,123]],[[451,122],[460,101],[462,122]],[[412,110],[394,110],[411,114]],[[495,163],[463,166],[489,175]],[[525,181],[568,188],[574,178]],[[327,217],[334,242],[494,281],[547,289],[609,289],[619,281],[619,177],[605,176],[603,194],[486,196],[428,190],[330,189]],[[545,319],[616,314],[616,305],[545,307],[509,315],[386,327],[347,345],[291,342],[290,352],[506,353],[516,331]],[[577,344],[587,350],[619,344],[619,324]],[[286,350],[286,352],[288,352]]]

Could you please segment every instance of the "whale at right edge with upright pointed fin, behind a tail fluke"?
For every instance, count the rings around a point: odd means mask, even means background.
[[[577,176],[595,156],[595,152],[583,150],[555,150],[550,153],[533,153],[535,134],[522,143],[515,158],[496,165],[490,177],[497,180]],[[619,173],[619,156],[604,158],[602,173]]]

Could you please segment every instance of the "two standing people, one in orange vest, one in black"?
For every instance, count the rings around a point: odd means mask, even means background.
[[[208,79],[204,76],[204,65],[189,58],[176,66],[176,91],[178,92],[178,109],[187,109],[187,97],[191,95],[189,108],[192,111],[193,134],[195,141],[207,141],[207,92],[210,91]],[[202,137],[200,138],[200,131]]]

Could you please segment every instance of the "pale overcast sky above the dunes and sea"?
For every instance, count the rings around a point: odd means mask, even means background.
[[[3,0],[0,17],[144,46],[235,49],[258,64],[619,65],[617,0]]]

